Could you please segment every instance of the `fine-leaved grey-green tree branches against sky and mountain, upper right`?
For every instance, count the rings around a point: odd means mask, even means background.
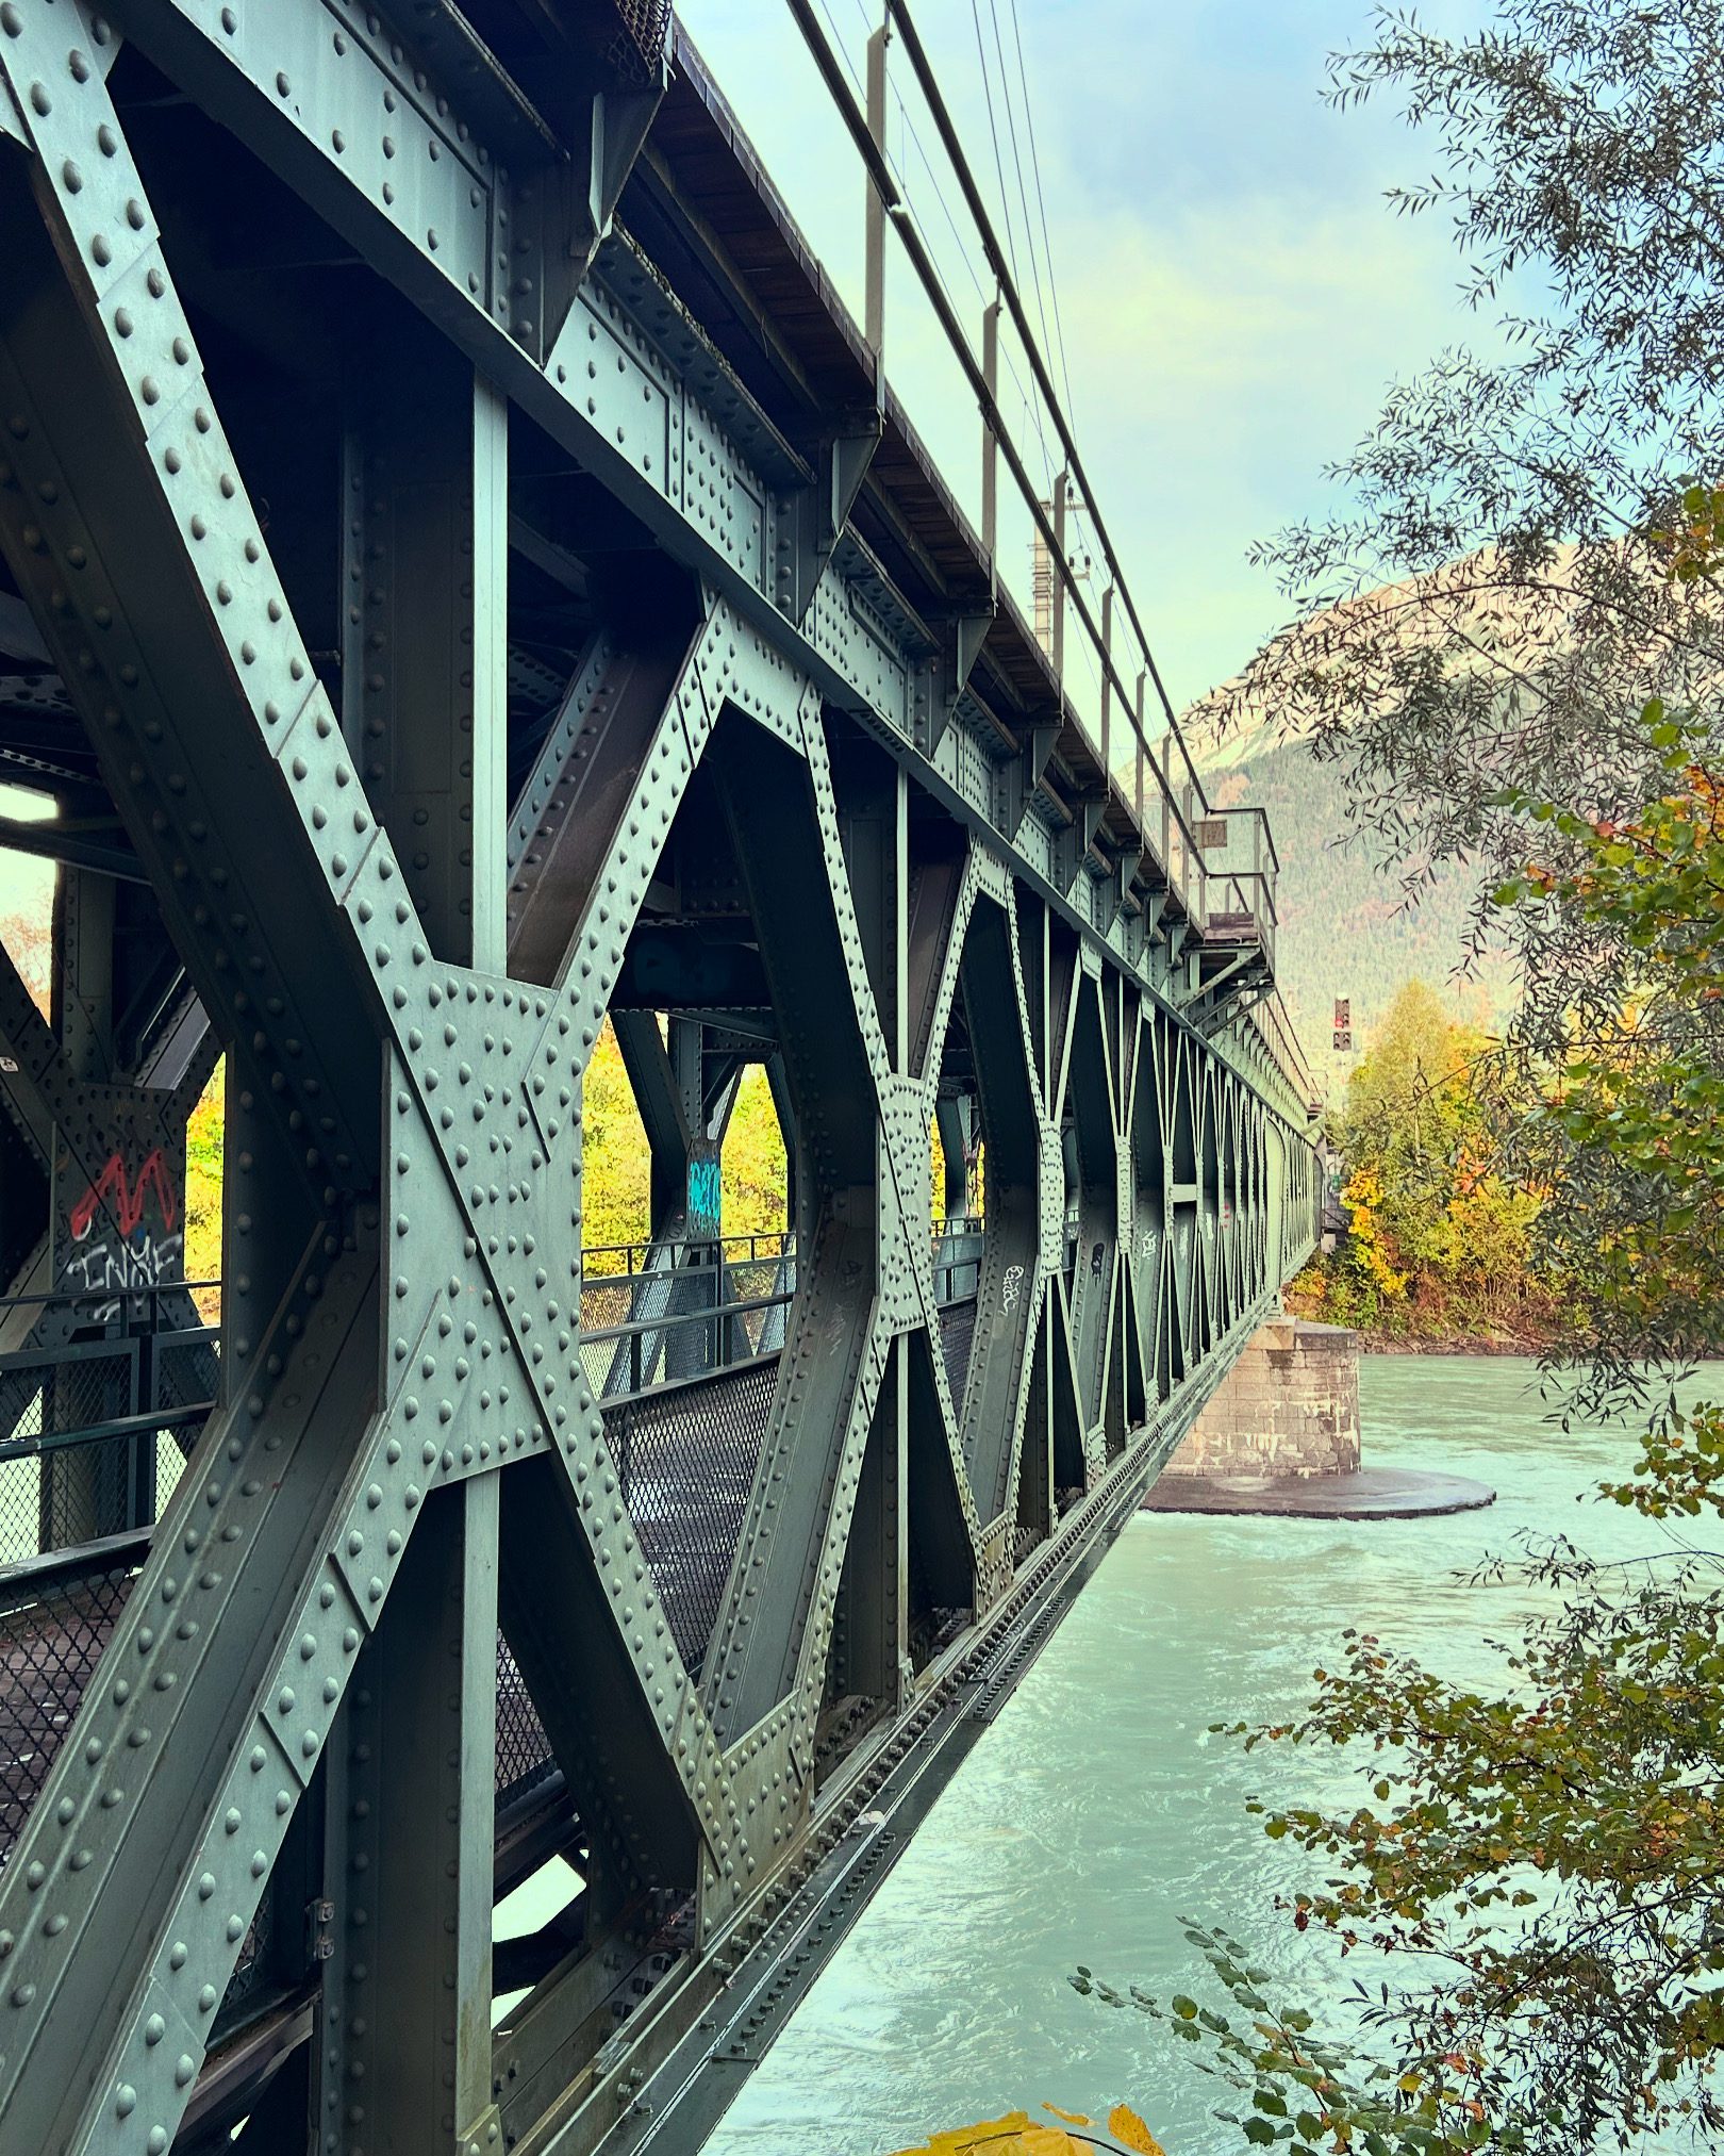
[[[1256,550],[1291,621],[1213,720],[1280,714],[1414,897],[1476,871],[1472,942],[1506,940],[1513,1044],[1552,1061],[1629,966],[1565,910],[1489,903],[1517,798],[1621,821],[1657,780],[1649,701],[1720,731],[1720,593],[1666,573],[1666,535],[1724,472],[1724,6],[1504,0],[1459,39],[1381,9],[1330,95],[1429,140],[1392,207],[1452,224],[1480,334],[1390,390],[1334,515]]]

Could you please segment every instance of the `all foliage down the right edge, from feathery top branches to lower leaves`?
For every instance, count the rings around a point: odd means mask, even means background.
[[[1504,1641],[1500,1692],[1345,1634],[1302,1716],[1235,1731],[1278,1759],[1259,1809],[1310,1863],[1284,1917],[1358,1971],[1351,2024],[1271,1999],[1215,1934],[1213,2003],[1075,1981],[1187,2040],[1248,2145],[1715,2147],[1724,1410],[1683,1412],[1674,1378],[1724,1339],[1724,6],[1504,0],[1465,39],[1379,13],[1334,63],[1336,103],[1366,97],[1435,138],[1396,207],[1455,220],[1504,334],[1399,384],[1343,513],[1263,550],[1295,623],[1241,709],[1284,709],[1345,770],[1412,882],[1470,865],[1474,946],[1521,981],[1491,1160],[1537,1197],[1504,1225],[1562,1289],[1552,1445],[1567,1416],[1638,1414],[1599,1498],[1670,1542],[1610,1565],[1582,1533],[1496,1567],[1545,1613]],[[1435,1117],[1442,1044],[1431,1063]],[[1371,1218],[1349,1263],[1392,1300],[1418,1238],[1358,1158],[1349,1181]],[[1360,1759],[1355,1800],[1299,1802],[1308,1744]]]

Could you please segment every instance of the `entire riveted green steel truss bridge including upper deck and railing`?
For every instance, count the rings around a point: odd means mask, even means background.
[[[996,578],[791,15],[864,326],[644,0],[0,0],[9,2156],[696,2145],[1312,1244],[1263,819]]]

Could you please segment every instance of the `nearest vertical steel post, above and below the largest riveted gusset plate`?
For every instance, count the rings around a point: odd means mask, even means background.
[[[506,962],[509,405],[433,354],[347,448],[343,733],[427,940]],[[491,2156],[498,1473],[437,1492],[336,1733],[319,2113],[353,2156]]]

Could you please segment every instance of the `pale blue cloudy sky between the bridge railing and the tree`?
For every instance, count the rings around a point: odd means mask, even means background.
[[[817,4],[860,71],[877,0]],[[1284,619],[1274,580],[1246,561],[1250,543],[1323,515],[1334,502],[1325,461],[1368,429],[1396,375],[1468,338],[1476,321],[1457,300],[1448,229],[1396,218],[1384,203],[1390,183],[1429,172],[1429,144],[1388,103],[1349,112],[1323,103],[1325,58],[1364,37],[1368,0],[916,0],[916,24],[996,220],[976,43],[981,30],[996,69],[998,22],[1015,88],[1013,13],[1073,431],[1172,701],[1183,705],[1237,673]],[[860,317],[862,175],[789,9],[782,0],[679,0],[679,15]],[[1485,0],[1420,6],[1431,30],[1465,30],[1483,17]],[[901,52],[888,65],[963,226],[909,67]],[[1021,285],[1030,287],[1000,95],[993,73]],[[907,177],[918,224],[961,310],[978,321],[983,295],[922,155],[905,140],[896,103],[888,114],[888,151]],[[1019,151],[1028,164],[1021,116]],[[974,515],[974,401],[950,369],[935,367],[931,317],[903,267],[888,278],[886,360]],[[1011,382],[1004,395],[1011,405]],[[1009,580],[1026,584],[1028,522],[1011,533],[1002,522],[1000,552]]]

